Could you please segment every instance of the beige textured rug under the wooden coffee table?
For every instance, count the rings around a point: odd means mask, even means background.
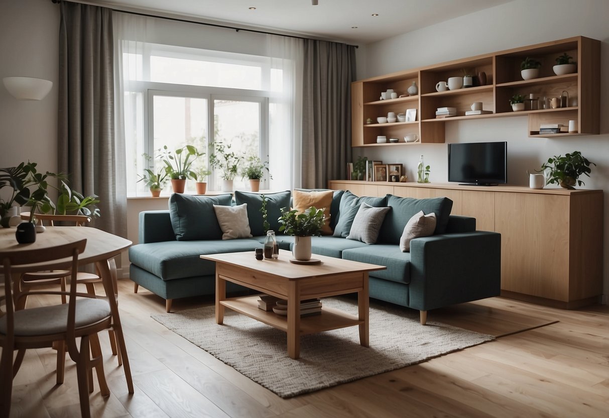
[[[323,299],[324,306],[357,315],[351,300]],[[494,339],[494,336],[429,321],[418,311],[370,303],[370,347],[359,345],[357,327],[305,335],[300,358],[287,356],[286,334],[225,310],[217,325],[214,306],[152,315],[169,330],[198,345],[283,398],[399,369]]]

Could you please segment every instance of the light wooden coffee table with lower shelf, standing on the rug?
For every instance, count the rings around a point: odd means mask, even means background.
[[[278,260],[256,260],[253,251],[202,255],[216,261],[216,322],[230,308],[287,333],[287,354],[300,356],[300,336],[337,328],[359,326],[359,342],[368,347],[368,272],[387,267],[324,257],[321,264],[292,264],[292,253],[280,250]],[[287,300],[287,317],[258,308],[258,296],[226,297],[226,282],[237,283]],[[357,292],[358,315],[333,308],[300,317],[300,300]]]

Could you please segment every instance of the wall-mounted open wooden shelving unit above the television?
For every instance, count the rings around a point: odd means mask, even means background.
[[[555,58],[566,52],[577,62],[577,72],[557,76],[552,70]],[[520,63],[526,57],[541,62],[540,77],[523,80]],[[476,75],[484,72],[485,85],[458,90],[436,91],[439,81],[449,77],[462,76],[463,70]],[[417,83],[418,94],[379,100],[382,91],[392,88],[398,94],[406,94],[412,83]],[[361,146],[404,146],[418,143],[443,143],[445,124],[463,119],[488,119],[506,116],[527,116],[528,135],[531,138],[551,138],[572,135],[598,135],[599,133],[599,83],[600,83],[600,41],[586,37],[573,37],[558,41],[509,49],[493,54],[478,55],[451,62],[410,69],[385,76],[360,80],[351,85],[352,140],[354,147]],[[543,108],[513,112],[509,99],[514,94],[529,97],[558,97],[563,91],[569,94],[568,107]],[[482,102],[487,115],[465,116],[473,102]],[[436,118],[438,107],[455,107],[457,115],[450,118]],[[407,108],[417,109],[414,122],[371,123],[378,116],[388,112],[404,113]],[[569,120],[576,120],[576,133],[539,133],[540,124],[558,123],[568,126]],[[405,143],[403,137],[417,133],[420,141]],[[399,138],[398,143],[376,143],[376,136]]]

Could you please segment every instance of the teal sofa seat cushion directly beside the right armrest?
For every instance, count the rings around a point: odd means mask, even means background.
[[[410,253],[401,252],[400,247],[390,244],[376,244],[363,248],[345,249],[345,260],[386,266],[386,270],[371,271],[370,277],[378,277],[397,283],[410,283]]]

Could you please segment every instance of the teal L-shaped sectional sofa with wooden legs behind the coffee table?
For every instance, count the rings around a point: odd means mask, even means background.
[[[312,238],[313,253],[386,266],[385,270],[370,272],[370,297],[420,311],[421,324],[425,324],[428,310],[499,295],[501,235],[476,231],[474,218],[451,215],[450,199],[413,199],[390,194],[357,197],[343,190],[294,191],[295,196],[303,193],[307,204],[323,195],[329,218],[325,228],[328,235]],[[295,202],[292,193],[266,194],[264,200],[269,227],[278,232],[281,208]],[[242,207],[243,204],[247,205]],[[214,205],[241,208],[242,221],[247,208],[245,223],[251,236],[222,239],[227,225],[226,222],[221,225]],[[362,205],[389,208],[382,209],[385,214],[375,244],[352,239]],[[257,193],[236,191],[234,201],[230,194],[214,197],[173,194],[169,210],[141,212],[139,244],[129,249],[130,278],[136,283],[136,291],[141,285],[166,299],[167,312],[171,310],[172,299],[213,294],[215,265],[199,255],[262,247],[265,237],[262,206],[262,195]],[[431,236],[412,239],[409,252],[403,252],[401,235],[409,220],[421,210],[434,214],[431,216],[437,220],[435,229]],[[277,241],[280,248],[290,250],[294,237],[278,233]],[[227,287],[228,292],[238,290],[236,285]]]

